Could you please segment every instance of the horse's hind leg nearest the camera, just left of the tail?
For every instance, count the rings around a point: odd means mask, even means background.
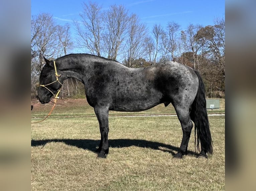
[[[183,137],[179,147],[179,151],[174,155],[176,158],[181,158],[184,154],[187,153],[188,141],[190,138],[191,130],[193,123],[189,116],[189,108],[179,105],[174,105],[178,119],[181,124]]]

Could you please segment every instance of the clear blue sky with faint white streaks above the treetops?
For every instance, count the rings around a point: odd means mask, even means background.
[[[72,34],[75,34],[73,20],[79,20],[79,13],[83,11],[83,2],[88,0],[31,0],[31,15],[50,13],[57,24],[69,23]],[[203,26],[213,25],[216,17],[225,17],[225,0],[96,0],[103,9],[110,5],[122,4],[129,13],[135,13],[146,23],[149,30],[152,26],[161,24],[163,27],[169,21],[175,21],[185,30],[189,24]]]

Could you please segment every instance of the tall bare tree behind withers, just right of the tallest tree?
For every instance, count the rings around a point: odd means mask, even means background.
[[[127,37],[128,11],[123,5],[111,5],[105,12],[104,48],[108,59],[116,60]]]

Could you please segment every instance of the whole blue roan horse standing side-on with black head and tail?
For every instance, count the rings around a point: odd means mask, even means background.
[[[45,58],[44,58],[45,59]],[[88,103],[94,107],[99,121],[101,141],[98,157],[109,152],[108,113],[114,111],[143,111],[160,103],[172,103],[180,121],[183,137],[174,157],[187,153],[187,145],[195,123],[199,156],[212,154],[212,138],[206,110],[205,88],[199,73],[182,64],[166,62],[146,68],[127,68],[121,63],[89,54],[70,54],[55,60],[58,82],[53,61],[46,64],[40,74],[38,98],[48,103],[67,78],[76,78],[85,85]],[[54,82],[54,83],[52,83]],[[51,92],[52,93],[51,93]],[[192,121],[191,121],[192,120]]]

